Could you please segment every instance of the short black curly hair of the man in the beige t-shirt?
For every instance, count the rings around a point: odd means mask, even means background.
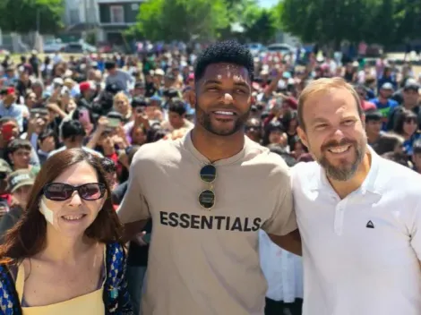
[[[253,55],[250,50],[236,40],[221,41],[203,50],[194,65],[194,80],[202,79],[206,68],[210,64],[236,64],[245,67],[250,81],[253,81]]]

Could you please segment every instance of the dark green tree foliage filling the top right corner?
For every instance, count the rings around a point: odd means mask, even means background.
[[[282,29],[305,42],[337,45],[365,40],[384,46],[419,38],[421,0],[283,0]]]

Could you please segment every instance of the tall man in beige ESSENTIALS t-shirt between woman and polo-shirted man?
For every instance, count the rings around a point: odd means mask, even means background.
[[[193,131],[144,145],[133,158],[118,216],[129,235],[152,218],[144,315],[262,315],[259,229],[301,250],[288,166],[245,137],[252,77],[245,47],[207,48],[195,67]],[[209,164],[216,168],[211,186],[200,176]],[[210,187],[214,206],[204,209],[199,195]]]

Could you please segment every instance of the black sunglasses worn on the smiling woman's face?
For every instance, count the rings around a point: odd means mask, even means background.
[[[104,197],[107,189],[103,183],[84,183],[80,186],[72,186],[68,183],[47,183],[43,189],[44,196],[54,201],[68,200],[73,196],[74,191],[77,191],[83,200],[99,200]]]

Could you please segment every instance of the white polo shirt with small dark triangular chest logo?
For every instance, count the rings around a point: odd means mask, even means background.
[[[343,200],[322,167],[292,170],[304,315],[421,314],[421,175],[379,157]]]

